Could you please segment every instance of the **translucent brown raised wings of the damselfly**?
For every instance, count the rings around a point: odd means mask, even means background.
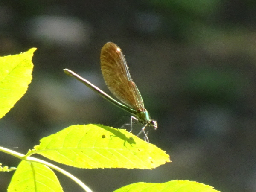
[[[131,79],[125,57],[114,43],[106,43],[100,54],[101,70],[108,89],[116,98],[129,107],[144,109],[140,92]]]

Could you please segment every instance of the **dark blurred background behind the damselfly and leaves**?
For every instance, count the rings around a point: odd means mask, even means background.
[[[107,93],[100,50],[121,47],[159,128],[150,143],[171,156],[154,170],[65,169],[95,192],[134,182],[194,180],[223,192],[256,191],[256,1],[2,0],[0,55],[37,47],[25,96],[0,120],[0,145],[26,153],[73,124],[121,127],[128,113]],[[0,153],[0,162],[19,160]],[[13,172],[0,174],[6,191]],[[65,192],[82,191],[58,173]]]

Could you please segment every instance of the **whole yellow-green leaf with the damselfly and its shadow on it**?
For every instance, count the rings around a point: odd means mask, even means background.
[[[31,154],[79,168],[153,169],[170,162],[155,145],[103,125],[72,125],[40,141]]]

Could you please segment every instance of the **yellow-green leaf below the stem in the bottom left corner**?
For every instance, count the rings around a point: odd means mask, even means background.
[[[8,192],[62,192],[62,187],[49,167],[40,163],[21,161]]]

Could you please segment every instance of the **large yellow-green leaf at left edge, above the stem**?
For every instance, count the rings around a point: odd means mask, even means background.
[[[26,93],[32,79],[35,50],[0,57],[0,118]]]

